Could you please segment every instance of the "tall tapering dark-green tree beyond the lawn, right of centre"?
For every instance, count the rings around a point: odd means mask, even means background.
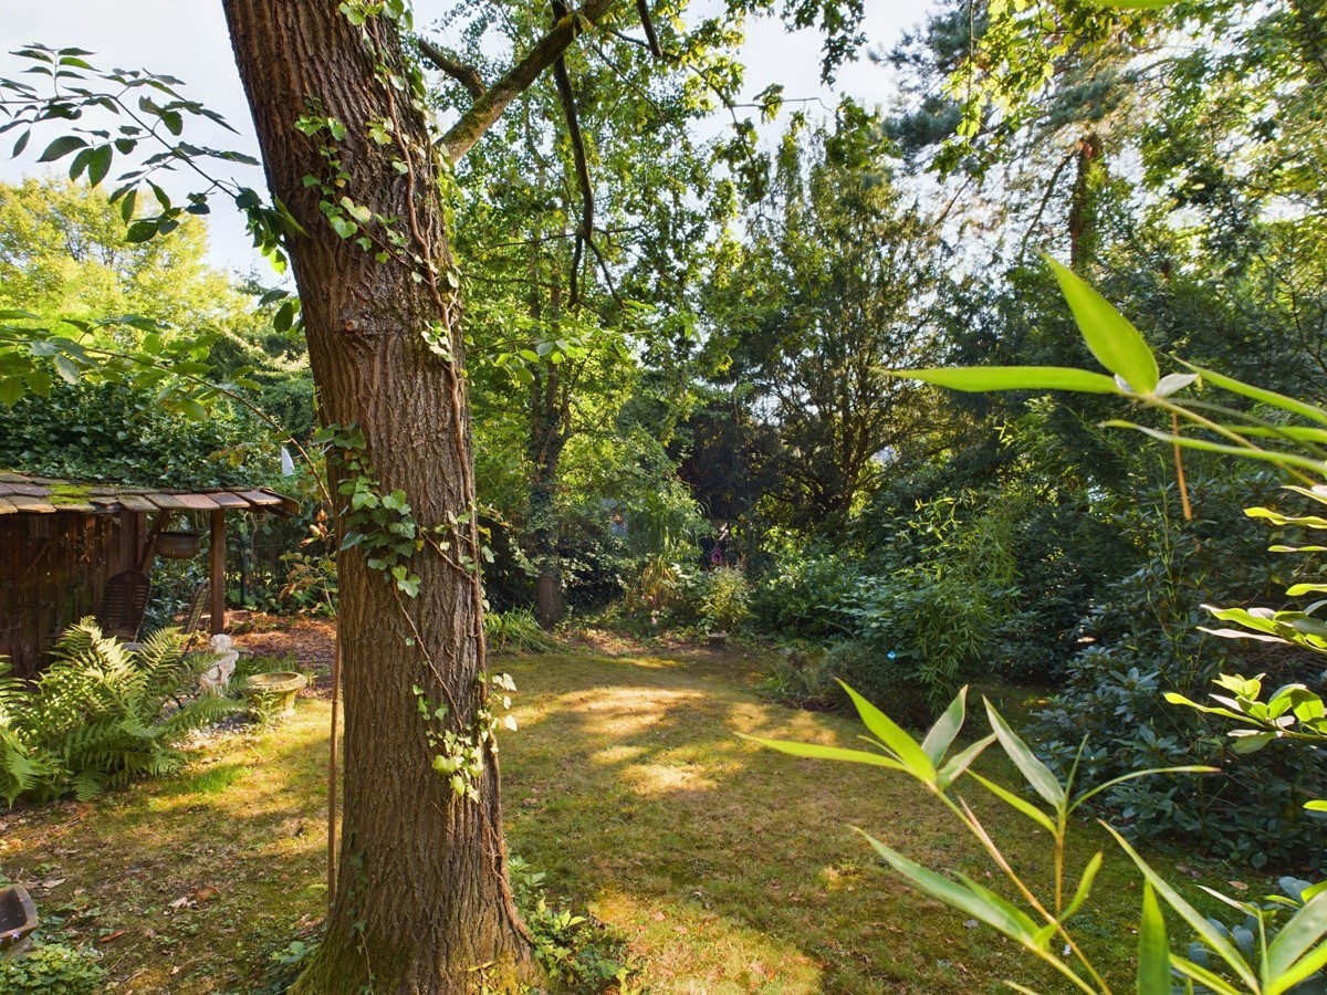
[[[888,370],[938,348],[943,251],[892,168],[878,122],[852,103],[832,129],[795,122],[746,219],[750,245],[713,288],[723,379],[778,431],[775,500],[800,527],[843,523],[926,422],[924,395]]]

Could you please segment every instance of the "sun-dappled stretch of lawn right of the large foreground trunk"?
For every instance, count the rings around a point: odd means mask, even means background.
[[[925,792],[735,735],[849,746],[855,722],[763,702],[742,690],[743,671],[726,685],[711,657],[547,657],[511,669],[522,690],[520,731],[503,740],[511,848],[633,934],[660,990],[969,992],[1046,980],[1014,945],[882,872],[851,829],[983,880],[985,856]],[[1020,870],[1046,869],[1044,834],[999,807],[978,811]],[[1084,840],[1105,849],[1099,832]],[[1103,892],[1127,876],[1120,860],[1104,873]],[[1132,957],[1127,894],[1101,926],[1111,966]]]

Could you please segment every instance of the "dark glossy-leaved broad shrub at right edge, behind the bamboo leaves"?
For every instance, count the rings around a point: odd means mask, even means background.
[[[1218,765],[1223,776],[1182,788],[1165,777],[1144,777],[1099,797],[1133,834],[1181,834],[1214,856],[1255,868],[1304,868],[1320,865],[1324,841],[1323,824],[1302,809],[1303,800],[1327,793],[1314,748],[1287,743],[1241,755],[1197,715],[1164,699],[1168,693],[1201,698],[1221,673],[1266,671],[1269,682],[1286,683],[1322,667],[1304,654],[1258,642],[1242,647],[1198,628],[1210,624],[1204,602],[1257,604],[1275,590],[1277,568],[1286,563],[1267,553],[1262,528],[1242,512],[1273,480],[1261,471],[1229,468],[1220,479],[1194,475],[1194,521],[1178,520],[1169,494],[1133,523],[1147,557],[1109,585],[1092,610],[1085,628],[1091,643],[1070,662],[1066,686],[1039,714],[1032,734],[1062,773],[1087,736],[1079,763],[1085,784],[1164,765]]]

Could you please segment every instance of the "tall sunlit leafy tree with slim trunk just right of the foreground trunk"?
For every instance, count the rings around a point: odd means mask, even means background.
[[[671,13],[642,37],[606,32],[564,53],[458,167],[456,247],[471,328],[483,330],[476,403],[502,417],[495,409],[519,397],[524,411],[528,499],[508,513],[523,525],[545,626],[563,610],[564,454],[577,436],[614,431],[638,361],[653,389],[685,390],[687,296],[734,204],[691,126],[736,100],[742,32],[683,32],[686,5]],[[460,46],[425,54],[450,84],[442,106],[456,110],[494,74],[494,34],[522,48],[547,17],[463,7],[447,24]],[[661,444],[673,401],[652,425]]]

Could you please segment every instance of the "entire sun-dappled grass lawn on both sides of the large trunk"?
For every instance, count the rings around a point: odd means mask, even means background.
[[[910,781],[734,735],[849,744],[859,732],[763,700],[758,659],[577,651],[494,666],[520,689],[520,730],[502,738],[511,850],[547,872],[551,897],[626,937],[638,987],[986,992],[1016,978],[1063,990],[877,866],[851,825],[999,888]],[[257,991],[271,955],[322,914],[328,719],[326,700],[309,698],[275,730],[215,739],[178,777],[0,815],[0,869],[29,885],[50,931],[102,953],[117,991]],[[1013,780],[994,756],[983,772]],[[975,785],[965,793],[1020,872],[1048,873],[1043,833]],[[1079,933],[1131,990],[1132,865],[1096,827],[1078,840],[1075,870],[1107,853]]]

